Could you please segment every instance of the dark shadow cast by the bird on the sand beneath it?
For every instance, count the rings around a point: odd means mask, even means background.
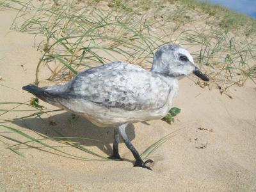
[[[112,155],[114,127],[97,127],[83,116],[74,116],[72,113],[61,113],[48,118],[26,118],[15,120],[13,124],[29,128],[33,131],[53,137],[76,137],[72,141],[85,146],[96,146],[108,156]],[[135,138],[134,126],[129,124],[125,131],[130,140]],[[83,140],[79,138],[87,138]],[[99,141],[93,141],[99,140]],[[120,139],[120,143],[123,141]]]

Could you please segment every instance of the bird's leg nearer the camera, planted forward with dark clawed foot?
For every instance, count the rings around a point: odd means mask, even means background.
[[[148,159],[147,161],[143,162],[143,160],[140,157],[140,154],[138,153],[136,148],[134,148],[131,141],[127,137],[127,134],[125,132],[126,127],[127,127],[127,124],[122,124],[118,127],[118,131],[119,131],[120,136],[124,140],[125,145],[129,148],[129,150],[131,150],[132,155],[136,159],[134,166],[140,166],[143,168],[147,168],[148,170],[152,170],[149,166],[146,166],[146,163],[152,163],[153,161],[151,159]]]

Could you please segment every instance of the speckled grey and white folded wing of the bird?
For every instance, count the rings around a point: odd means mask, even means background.
[[[77,74],[67,83],[65,95],[131,111],[163,107],[170,89],[166,77],[137,65],[114,62]]]

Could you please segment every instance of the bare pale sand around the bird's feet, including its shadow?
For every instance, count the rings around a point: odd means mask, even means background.
[[[35,80],[36,63],[41,56],[33,47],[33,36],[8,33],[13,15],[0,13],[0,83],[4,85],[0,85],[0,102],[30,99],[31,94],[21,87]],[[46,148],[31,147],[20,149],[26,156],[21,158],[6,149],[6,143],[15,143],[8,138],[23,139],[1,127],[1,191],[256,191],[255,84],[232,87],[234,99],[229,99],[216,88],[200,88],[194,81],[195,77],[180,80],[173,106],[181,108],[182,113],[175,124],[154,120],[129,125],[127,129],[139,152],[164,135],[178,131],[150,155],[154,159],[150,164],[152,172],[133,167],[134,158],[123,142],[120,155],[125,161],[81,161],[51,154]],[[44,102],[40,104],[54,108]],[[70,113],[64,111],[43,117],[44,122],[28,118],[6,125],[31,135],[36,134],[28,127],[49,136],[55,136],[56,130],[65,136],[99,139],[105,144],[79,142],[102,156],[111,154],[113,129],[96,127],[84,118],[70,123]],[[13,113],[4,118],[13,118]],[[56,125],[50,125],[51,121]],[[63,148],[86,156],[81,150]]]

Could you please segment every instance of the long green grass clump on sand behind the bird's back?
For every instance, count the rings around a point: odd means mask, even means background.
[[[21,17],[31,13],[28,19]],[[42,63],[52,70],[49,81],[67,81],[77,71],[99,63],[147,62],[158,45],[157,38],[141,33],[141,19],[133,13],[116,15],[114,11],[79,6],[73,1],[57,7],[42,1],[39,8],[20,11],[12,29],[44,38],[38,46],[43,52],[36,68],[35,84],[38,84]],[[61,65],[52,68],[56,62]]]

